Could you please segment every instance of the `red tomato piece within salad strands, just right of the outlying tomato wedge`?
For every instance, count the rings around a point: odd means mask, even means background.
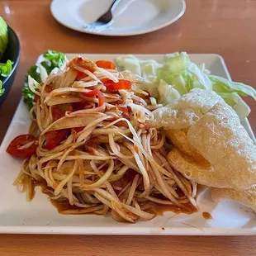
[[[50,130],[45,134],[46,143],[45,149],[55,149],[59,144],[67,138],[69,130]]]

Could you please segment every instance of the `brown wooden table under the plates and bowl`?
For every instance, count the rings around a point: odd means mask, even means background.
[[[21,61],[12,91],[0,108],[0,140],[21,97],[26,70],[46,49],[73,53],[222,55],[234,80],[256,85],[256,1],[190,0],[184,17],[143,36],[102,37],[71,31],[50,15],[50,0],[0,2],[0,15],[17,31]],[[249,121],[256,128],[256,104]],[[0,235],[0,255],[255,255],[254,237],[113,237]]]

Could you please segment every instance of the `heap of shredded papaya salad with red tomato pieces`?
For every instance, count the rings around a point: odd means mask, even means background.
[[[146,126],[163,107],[142,90],[141,78],[107,60],[76,57],[63,69],[28,76],[35,93],[31,129],[7,153],[24,159],[14,184],[27,199],[45,184],[63,214],[150,220],[159,208],[197,211],[197,183],[168,164],[171,147],[161,129]]]

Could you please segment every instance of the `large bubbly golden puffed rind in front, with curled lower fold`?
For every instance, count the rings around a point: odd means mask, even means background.
[[[188,168],[193,181],[208,187],[237,190],[256,183],[256,146],[235,111],[227,104],[217,103],[190,126],[187,142],[197,149],[211,168],[202,167],[200,160],[188,159],[177,150],[168,154],[168,160],[184,175]]]

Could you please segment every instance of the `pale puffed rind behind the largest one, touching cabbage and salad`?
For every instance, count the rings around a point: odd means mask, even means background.
[[[153,111],[154,119],[147,121],[147,125],[157,129],[163,127],[164,130],[188,128],[216,102],[224,102],[216,92],[195,88],[171,105]]]

